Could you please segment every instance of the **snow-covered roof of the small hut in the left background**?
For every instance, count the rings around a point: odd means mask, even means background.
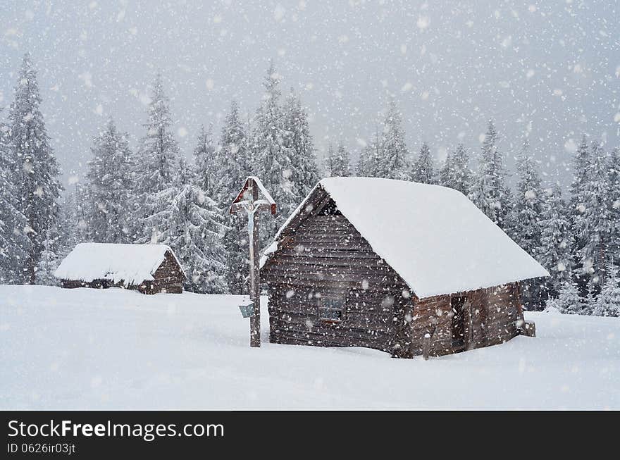
[[[111,280],[135,285],[154,279],[153,273],[165,259],[166,251],[178,263],[166,244],[80,243],[56,268],[54,276],[63,280]]]

